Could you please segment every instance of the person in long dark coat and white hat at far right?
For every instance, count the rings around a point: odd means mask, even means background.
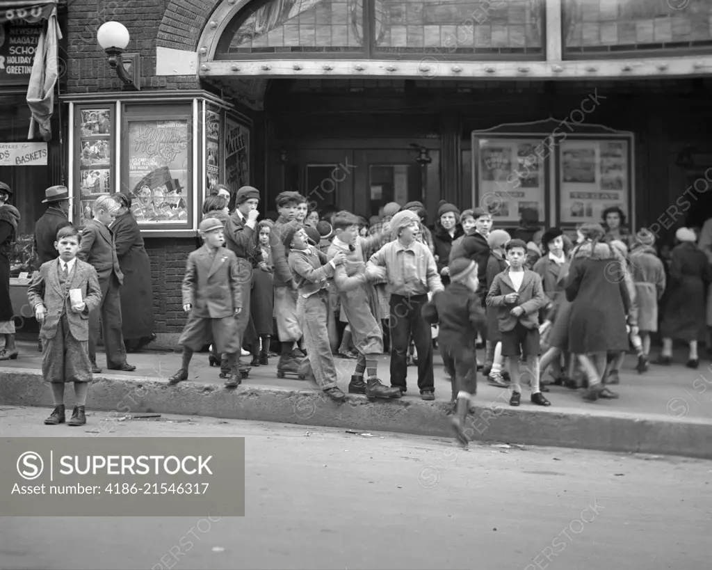
[[[672,362],[672,342],[689,343],[690,354],[686,366],[697,368],[697,341],[705,331],[705,291],[712,281],[712,269],[707,256],[696,246],[695,232],[681,227],[675,233],[680,244],[671,253],[670,290],[665,304],[661,332],[663,350],[656,364],[669,366]]]

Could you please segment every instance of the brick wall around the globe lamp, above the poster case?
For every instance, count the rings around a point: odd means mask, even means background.
[[[194,4],[214,4],[214,0],[192,0]],[[178,28],[179,21],[167,18],[171,24],[164,24],[164,14],[169,5],[181,4],[175,0],[75,0],[68,4],[68,24],[65,32],[66,52],[61,57],[66,61],[69,93],[97,93],[121,88],[121,82],[107,61],[107,56],[96,40],[96,32],[105,21],[120,21],[131,36],[126,53],[140,53],[141,88],[147,89],[196,89],[196,76],[156,77],[156,38],[162,29],[162,45],[170,43],[171,35],[182,41],[189,38],[189,32]],[[190,2],[184,2],[190,4]],[[169,14],[172,14],[169,11]],[[206,19],[207,16],[201,16]],[[173,24],[175,23],[175,25]],[[197,20],[194,19],[197,26]],[[194,43],[199,37],[200,28]],[[175,43],[175,42],[174,42]],[[171,45],[170,47],[174,47]],[[181,44],[182,49],[194,46]]]

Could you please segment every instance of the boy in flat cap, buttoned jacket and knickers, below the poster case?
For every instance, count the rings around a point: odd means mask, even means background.
[[[183,346],[183,360],[168,383],[187,380],[193,353],[214,343],[219,353],[226,354],[230,366],[225,385],[235,388],[242,379],[237,362],[241,348],[237,318],[242,312],[243,284],[249,283],[250,274],[236,255],[223,247],[223,224],[219,219],[204,219],[199,232],[203,245],[188,256],[183,277],[183,310],[189,314],[178,341]]]

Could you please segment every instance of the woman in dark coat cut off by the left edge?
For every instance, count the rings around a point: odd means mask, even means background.
[[[10,254],[17,237],[20,212],[9,204],[12,190],[0,182],[0,361],[15,360],[14,311],[10,299]]]

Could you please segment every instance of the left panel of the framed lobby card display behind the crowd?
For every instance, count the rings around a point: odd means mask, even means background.
[[[535,138],[473,138],[476,200],[495,223],[519,222],[525,209],[545,219],[545,167]]]

